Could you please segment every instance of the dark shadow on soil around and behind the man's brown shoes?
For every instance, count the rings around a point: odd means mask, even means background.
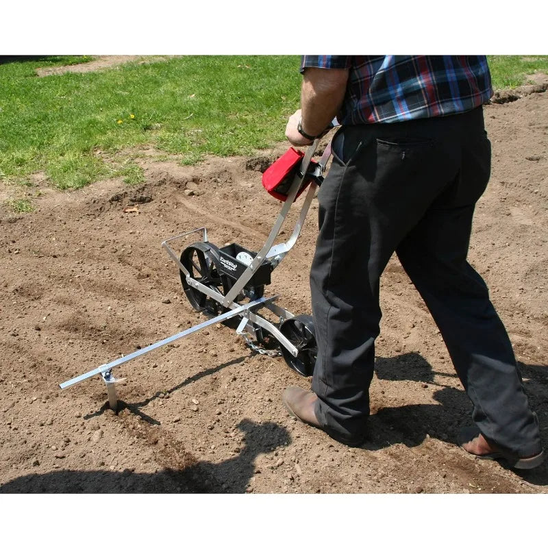
[[[523,387],[530,404],[537,411],[543,447],[548,447],[545,413],[548,367],[518,363]],[[410,404],[395,408],[379,408],[369,417],[369,439],[364,449],[376,450],[396,443],[408,447],[421,445],[426,436],[449,443],[457,443],[462,427],[471,425],[472,404],[463,388],[453,388],[436,381],[436,377],[457,377],[456,374],[434,372],[432,366],[418,353],[407,353],[395,358],[377,358],[375,373],[379,379],[413,381],[438,387],[432,397],[441,405]],[[548,461],[530,471],[512,469],[527,482],[548,485]],[[503,461],[501,465],[506,466]]]

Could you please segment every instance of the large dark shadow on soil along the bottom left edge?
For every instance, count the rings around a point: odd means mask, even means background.
[[[290,443],[284,427],[275,423],[238,424],[245,447],[234,458],[214,463],[198,461],[184,469],[157,473],[55,471],[29,474],[0,486],[2,493],[245,493],[261,453]]]

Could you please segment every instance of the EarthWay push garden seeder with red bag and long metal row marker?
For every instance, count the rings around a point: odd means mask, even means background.
[[[264,297],[264,286],[271,283],[272,271],[295,245],[315,190],[323,181],[331,147],[328,145],[321,160],[316,162],[312,160],[312,156],[318,144],[319,139],[314,140],[306,154],[290,148],[263,173],[264,188],[281,200],[283,205],[269,237],[257,253],[236,243],[217,247],[208,240],[205,227],[162,242],[162,246],[179,268],[182,286],[190,305],[210,316],[210,319],[63,382],[59,385],[60,388],[69,388],[90,377],[101,375],[107,387],[110,408],[116,410],[116,382],[121,379],[115,379],[112,375],[114,367],[221,322],[229,327],[237,325],[236,333],[245,338],[251,349],[270,355],[281,353],[291,369],[303,376],[312,375],[317,353],[312,316],[295,316],[277,306],[274,301],[278,296]],[[273,245],[292,203],[307,187],[308,192],[290,238],[284,243]],[[180,255],[171,248],[177,240],[195,233],[201,233],[201,240],[186,247]],[[260,312],[264,310],[269,311],[264,313],[276,320],[262,316]],[[237,319],[240,319],[239,323]],[[267,349],[271,343],[277,343],[279,349]]]

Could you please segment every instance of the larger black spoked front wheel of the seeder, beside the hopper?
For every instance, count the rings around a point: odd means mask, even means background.
[[[195,279],[204,286],[210,287],[221,295],[226,295],[226,282],[223,282],[223,277],[219,275],[219,261],[215,257],[218,251],[219,248],[210,242],[196,242],[184,249],[181,253],[181,262],[190,273],[192,279]],[[184,292],[192,308],[199,312],[212,314],[213,316],[225,312],[221,303],[202,293],[197,288],[188,285],[186,275],[183,271],[179,271],[179,274],[181,275]]]

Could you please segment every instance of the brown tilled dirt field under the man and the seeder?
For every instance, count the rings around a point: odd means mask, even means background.
[[[548,93],[485,113],[493,175],[469,258],[508,327],[548,447]],[[310,379],[226,326],[115,369],[127,377],[118,414],[100,378],[60,390],[203,321],[160,242],[206,226],[216,245],[260,249],[279,211],[260,169],[286,148],[194,167],[148,151],[139,188],[108,180],[58,192],[37,174],[36,212],[0,206],[0,493],[548,493],[547,463],[518,474],[456,445],[471,406],[395,258],[382,278],[362,447],[291,419],[282,392]],[[310,313],[316,214],[313,203],[266,287],[295,314]]]

